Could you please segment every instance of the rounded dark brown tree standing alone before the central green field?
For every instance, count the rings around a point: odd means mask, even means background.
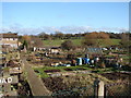
[[[71,40],[66,40],[64,42],[61,44],[61,48],[63,50],[71,50],[71,49],[75,49],[75,46]]]

